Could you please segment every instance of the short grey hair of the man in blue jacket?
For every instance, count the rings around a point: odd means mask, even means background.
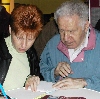
[[[54,19],[57,23],[57,19],[59,17],[78,15],[81,20],[80,25],[84,26],[89,18],[88,10],[88,5],[80,0],[66,1],[62,3],[61,6],[55,11]]]

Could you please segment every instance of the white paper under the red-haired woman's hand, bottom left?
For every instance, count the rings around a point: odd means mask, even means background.
[[[50,94],[56,89],[52,88],[52,82],[40,81],[37,87],[37,92],[32,92],[30,88],[25,90],[25,88],[17,88],[7,91],[7,95],[15,99],[34,99],[43,94]]]

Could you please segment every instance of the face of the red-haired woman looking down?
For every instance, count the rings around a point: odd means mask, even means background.
[[[24,53],[33,45],[35,37],[11,33],[11,41],[17,52]]]

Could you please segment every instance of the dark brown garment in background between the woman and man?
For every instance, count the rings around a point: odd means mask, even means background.
[[[57,24],[55,20],[50,20],[43,27],[40,35],[37,37],[36,41],[34,42],[34,48],[37,51],[38,58],[40,58],[46,43],[56,34],[58,34]]]

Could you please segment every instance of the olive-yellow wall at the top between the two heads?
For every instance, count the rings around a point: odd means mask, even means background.
[[[44,14],[51,14],[65,1],[66,0],[15,0],[15,3],[35,4]]]

